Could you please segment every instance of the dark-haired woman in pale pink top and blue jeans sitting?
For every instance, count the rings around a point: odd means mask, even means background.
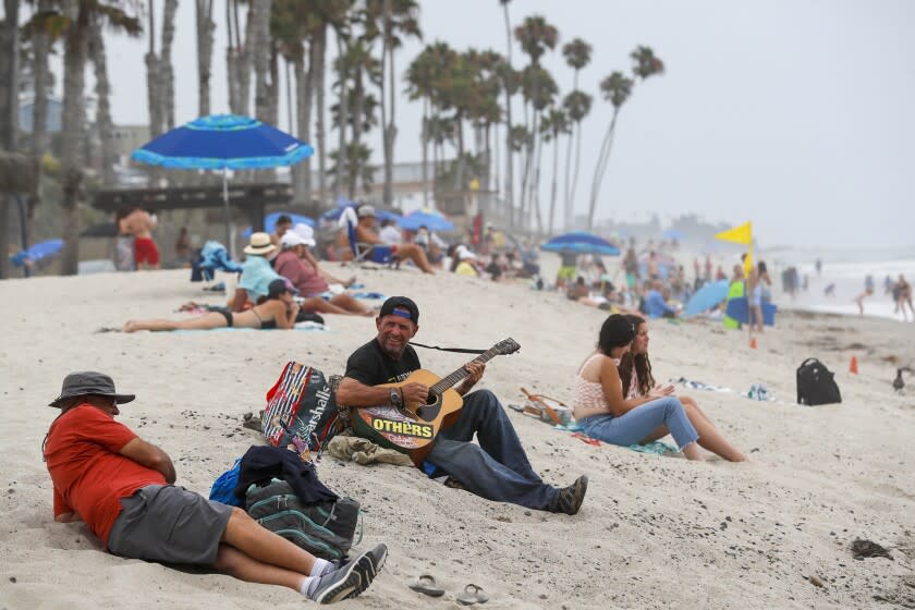
[[[699,434],[676,398],[625,398],[617,367],[634,338],[635,327],[622,314],[603,322],[597,350],[575,376],[575,419],[589,437],[622,447],[647,442],[663,427],[686,459],[703,460]]]

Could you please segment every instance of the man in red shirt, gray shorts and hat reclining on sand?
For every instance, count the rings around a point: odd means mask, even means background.
[[[319,603],[364,591],[388,549],[337,566],[261,527],[243,510],[174,485],[171,457],[114,420],[121,394],[108,375],[71,373],[50,406],[60,415],[42,453],[58,523],[84,521],[112,554],[204,565],[251,583],[281,585]]]

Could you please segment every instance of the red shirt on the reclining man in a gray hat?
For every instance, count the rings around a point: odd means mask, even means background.
[[[118,453],[135,438],[90,404],[71,408],[48,431],[45,460],[54,484],[54,516],[75,512],[106,548],[121,498],[147,485],[166,485],[162,473]]]

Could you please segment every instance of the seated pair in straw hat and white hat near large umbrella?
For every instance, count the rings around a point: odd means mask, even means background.
[[[333,283],[350,285],[326,273],[310,256],[308,246],[315,240],[310,227],[297,224],[281,237],[283,252],[270,264],[268,256],[277,247],[267,233],[253,233],[251,243],[245,247],[247,255],[242,264],[242,277],[232,302],[233,312],[242,312],[248,302],[259,303],[267,293],[267,286],[273,280],[285,277],[302,293],[302,309],[309,314],[335,314],[342,316],[371,316],[374,312],[362,305],[349,294],[335,294],[330,300],[320,296],[328,288],[328,279]]]

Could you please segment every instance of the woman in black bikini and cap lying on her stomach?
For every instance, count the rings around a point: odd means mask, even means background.
[[[213,328],[280,328],[288,330],[295,324],[298,304],[292,297],[286,280],[270,282],[267,301],[241,313],[220,309],[190,320],[129,320],[122,332],[136,330],[210,330]]]

